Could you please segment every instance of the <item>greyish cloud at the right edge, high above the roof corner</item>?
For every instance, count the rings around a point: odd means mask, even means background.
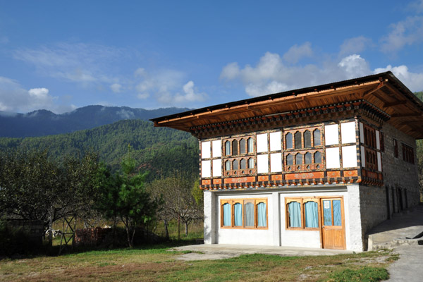
[[[423,16],[408,17],[391,25],[391,32],[382,37],[381,51],[395,53],[405,45],[423,41]]]

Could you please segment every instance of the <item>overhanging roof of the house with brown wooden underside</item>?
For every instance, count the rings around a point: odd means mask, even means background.
[[[423,139],[423,102],[390,71],[325,85],[268,94],[153,118],[154,126],[192,132],[191,128],[255,116],[283,114],[357,99],[366,99],[391,116],[391,125]]]

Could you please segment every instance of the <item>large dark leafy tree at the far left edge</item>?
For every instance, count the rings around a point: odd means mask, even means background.
[[[0,211],[8,217],[41,220],[44,229],[90,206],[97,155],[55,161],[47,151],[0,154]]]

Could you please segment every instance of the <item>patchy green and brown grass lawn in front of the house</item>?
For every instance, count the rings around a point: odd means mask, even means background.
[[[380,281],[388,251],[320,257],[242,255],[184,262],[171,244],[0,260],[0,281]]]

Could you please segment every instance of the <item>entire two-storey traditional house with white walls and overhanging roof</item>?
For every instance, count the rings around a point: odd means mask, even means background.
[[[419,202],[422,115],[386,72],[152,121],[200,141],[204,243],[360,251]]]

